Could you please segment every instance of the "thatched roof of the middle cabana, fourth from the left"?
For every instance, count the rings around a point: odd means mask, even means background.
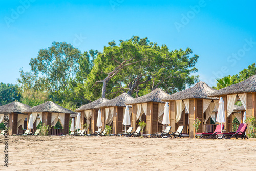
[[[106,101],[104,103],[101,103],[101,104],[95,106],[94,108],[98,109],[98,108],[115,107],[115,106],[126,107],[125,102],[133,100],[133,99],[134,98],[132,96],[130,96],[129,94],[123,93],[123,94],[117,96],[116,98],[113,98],[109,101]]]

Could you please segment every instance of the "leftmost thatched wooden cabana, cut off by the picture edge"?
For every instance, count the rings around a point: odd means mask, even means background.
[[[23,133],[22,127],[27,114],[22,111],[29,108],[30,106],[17,101],[0,106],[0,123],[4,122],[6,125],[8,119],[9,135]]]

